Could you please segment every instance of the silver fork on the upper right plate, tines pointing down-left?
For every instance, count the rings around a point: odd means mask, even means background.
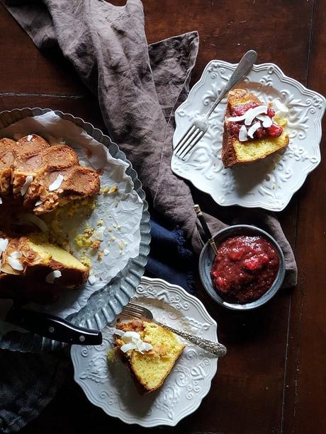
[[[181,160],[184,160],[184,157],[191,152],[191,149],[196,146],[196,144],[208,130],[208,118],[213,113],[216,106],[220,103],[220,101],[223,100],[227,92],[230,91],[230,89],[247,74],[256,60],[257,52],[254,50],[247,51],[237,65],[235,72],[233,72],[232,76],[230,76],[230,79],[225,83],[225,86],[220,91],[218,98],[210,108],[207,115],[196,118],[188,130],[186,130],[174,149],[174,154]]]

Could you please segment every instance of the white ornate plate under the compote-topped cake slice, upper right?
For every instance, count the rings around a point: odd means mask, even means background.
[[[236,64],[212,60],[189,97],[175,113],[173,145],[189,128],[193,118],[204,115]],[[225,169],[221,161],[223,117],[226,98],[210,117],[210,128],[193,152],[182,161],[172,157],[172,171],[212,196],[218,205],[262,207],[281,211],[310,171],[320,163],[321,120],[325,98],[285,76],[275,64],[254,65],[237,88],[255,93],[262,101],[279,99],[288,106],[286,118],[290,143],[283,154],[274,154],[247,166]]]

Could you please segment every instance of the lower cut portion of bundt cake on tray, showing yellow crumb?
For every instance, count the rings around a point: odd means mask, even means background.
[[[0,232],[0,298],[53,302],[64,289],[80,287],[89,268],[42,234]]]

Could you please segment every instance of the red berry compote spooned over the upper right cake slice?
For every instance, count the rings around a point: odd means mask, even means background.
[[[235,108],[233,108],[231,112],[231,118],[235,118],[236,116],[242,116],[244,115],[249,108],[255,108],[258,107],[259,104],[255,103],[254,101],[250,101],[249,103],[242,104],[242,105],[236,105]],[[268,106],[266,115],[269,118],[274,118],[275,112],[272,108]],[[259,119],[254,118],[252,124],[257,122]],[[229,128],[230,132],[233,137],[235,137],[237,140],[239,139],[239,131],[242,125],[245,125],[244,120],[240,120],[238,122],[230,122]],[[260,127],[258,130],[254,132],[254,139],[262,139],[264,137],[279,137],[283,132],[283,127],[281,125],[276,125],[275,123],[272,123],[270,127]]]

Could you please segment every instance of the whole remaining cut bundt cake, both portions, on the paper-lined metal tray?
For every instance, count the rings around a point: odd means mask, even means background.
[[[27,210],[36,219],[99,188],[98,173],[81,167],[69,146],[50,146],[35,134],[0,139],[0,297],[52,302],[86,282],[88,267],[44,234],[17,234],[12,217]]]

